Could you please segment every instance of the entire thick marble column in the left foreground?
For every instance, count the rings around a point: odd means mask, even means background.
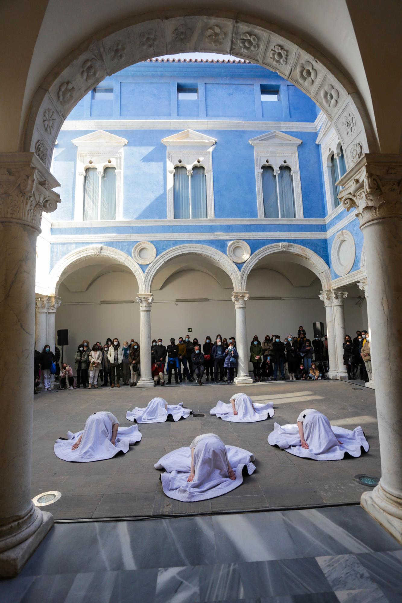
[[[0,349],[0,576],[14,576],[53,526],[51,513],[31,500],[35,261],[42,212],[60,201],[60,186],[34,153],[0,153],[0,325],[18,346],[24,370]],[[15,447],[18,434],[18,450]]]

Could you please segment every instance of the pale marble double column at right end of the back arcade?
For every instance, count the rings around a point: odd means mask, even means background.
[[[330,379],[347,379],[348,371],[343,365],[343,341],[345,341],[345,311],[343,300],[346,291],[338,289],[325,289],[319,294],[324,301],[325,315],[327,321],[328,356],[330,359]]]

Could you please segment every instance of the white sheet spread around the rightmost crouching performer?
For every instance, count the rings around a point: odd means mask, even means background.
[[[368,441],[359,426],[353,431],[331,425],[328,417],[322,412],[311,412],[303,423],[304,439],[308,449],[302,448],[297,424],[278,425],[275,423],[273,431],[268,436],[271,446],[279,446],[290,454],[301,458],[311,458],[314,461],[339,461],[349,453],[351,456],[360,456],[362,448],[365,452],[369,449]],[[342,444],[339,444],[339,441]]]

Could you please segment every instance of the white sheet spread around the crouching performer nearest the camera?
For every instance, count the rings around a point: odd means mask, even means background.
[[[228,475],[228,459],[236,474],[231,480]],[[251,475],[255,466],[254,455],[236,446],[225,446],[219,437],[200,440],[194,449],[195,476],[188,482],[191,468],[191,449],[184,446],[162,456],[155,469],[165,469],[162,473],[164,493],[175,500],[194,502],[222,496],[234,490],[243,482],[243,469]]]

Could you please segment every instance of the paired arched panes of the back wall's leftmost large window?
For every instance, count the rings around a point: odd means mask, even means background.
[[[105,168],[101,178],[97,168],[87,168],[84,178],[85,220],[116,218],[116,168]]]

